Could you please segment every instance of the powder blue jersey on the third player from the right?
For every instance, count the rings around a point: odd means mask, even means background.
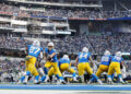
[[[79,63],[81,62],[88,62],[91,57],[91,52],[80,52],[79,54]]]

